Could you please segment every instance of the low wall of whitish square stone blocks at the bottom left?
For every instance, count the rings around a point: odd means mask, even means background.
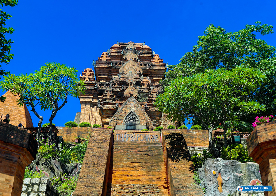
[[[56,188],[48,178],[26,178],[21,196],[58,196]]]

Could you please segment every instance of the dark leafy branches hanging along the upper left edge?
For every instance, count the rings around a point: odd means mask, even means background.
[[[17,5],[18,0],[0,0],[0,4],[3,7],[5,6],[15,6]],[[13,54],[10,53],[10,44],[13,43],[10,39],[6,40],[5,34],[10,33],[12,34],[14,29],[9,27],[6,28],[6,20],[10,19],[12,17],[10,14],[2,11],[0,9],[0,67],[2,67],[2,63],[9,64],[10,60],[13,59]],[[5,70],[0,69],[0,79],[1,76],[4,76],[8,74],[9,72],[6,72]],[[1,96],[0,101],[4,102],[6,97]]]

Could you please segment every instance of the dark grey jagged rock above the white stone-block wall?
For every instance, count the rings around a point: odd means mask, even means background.
[[[43,170],[44,178],[52,178],[53,176],[63,177],[64,174],[68,176],[79,175],[82,164],[63,164],[58,160],[44,159],[36,156],[36,160],[30,164],[30,167],[33,171]]]

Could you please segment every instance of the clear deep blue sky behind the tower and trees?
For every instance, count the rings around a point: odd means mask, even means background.
[[[2,8],[13,16],[7,27],[15,29],[9,36],[14,41],[14,58],[2,68],[12,74],[29,74],[44,62],[59,62],[74,66],[79,75],[117,41],[145,42],[164,62],[175,65],[210,24],[226,32],[256,21],[276,27],[275,7],[276,1],[249,0],[19,0],[15,7]],[[258,37],[276,46],[276,33]],[[69,98],[53,123],[64,126],[79,111],[79,99]],[[38,118],[30,114],[37,126]],[[49,122],[49,111],[40,115],[43,123]]]

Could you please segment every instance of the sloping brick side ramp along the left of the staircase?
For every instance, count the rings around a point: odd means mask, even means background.
[[[93,128],[74,196],[105,195],[113,141],[112,130]]]

